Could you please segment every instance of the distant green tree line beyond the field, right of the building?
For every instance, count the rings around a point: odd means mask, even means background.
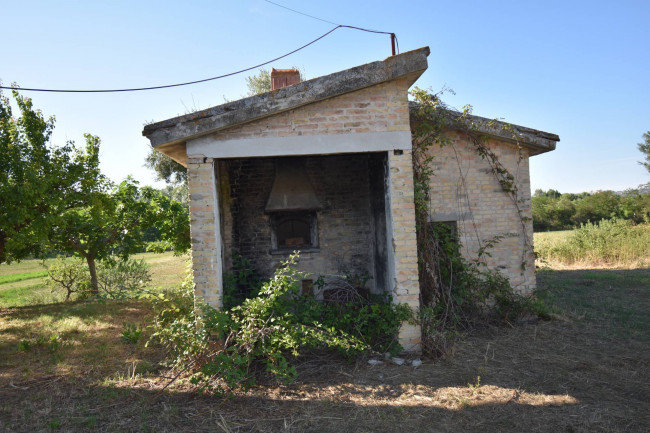
[[[650,184],[624,192],[562,194],[538,189],[532,197],[535,231],[567,230],[587,222],[621,218],[636,224],[650,222]]]

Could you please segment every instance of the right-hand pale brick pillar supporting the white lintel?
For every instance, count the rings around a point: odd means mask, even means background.
[[[389,245],[387,281],[393,291],[394,302],[407,304],[417,310],[420,307],[420,282],[411,151],[388,152],[387,171],[386,229]],[[402,324],[398,338],[406,352],[419,353],[422,350],[419,326]]]

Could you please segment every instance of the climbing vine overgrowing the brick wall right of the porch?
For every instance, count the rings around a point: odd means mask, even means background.
[[[507,278],[487,268],[485,257],[489,249],[499,242],[500,236],[482,239],[476,225],[478,259],[467,262],[460,254],[455,234],[444,225],[429,224],[431,221],[431,178],[435,176],[433,147],[451,146],[458,157],[449,131],[458,131],[467,137],[469,148],[487,161],[490,171],[501,186],[521,222],[522,270],[526,256],[532,251],[527,224],[523,212],[525,199],[517,185],[517,177],[500,161],[488,147],[485,131],[501,135],[509,133],[518,148],[517,168],[523,160],[521,146],[514,129],[497,121],[482,121],[471,115],[471,106],[454,111],[442,101],[443,92],[433,94],[415,88],[411,107],[413,134],[413,172],[418,238],[418,260],[421,285],[421,320],[425,350],[433,354],[445,353],[458,332],[485,321],[510,323],[516,316],[526,312],[539,312],[540,305],[532,298],[524,298],[512,290]],[[460,161],[459,161],[460,169]],[[461,187],[469,200],[467,185],[461,170]],[[469,201],[467,206],[470,207]],[[493,306],[487,308],[488,305]]]

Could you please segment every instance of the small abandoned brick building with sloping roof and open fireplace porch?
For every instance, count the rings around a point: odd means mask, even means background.
[[[155,149],[188,169],[197,297],[221,307],[234,252],[264,277],[300,250],[302,271],[366,274],[371,291],[419,306],[407,96],[428,54],[421,48],[304,82],[273,70],[273,83],[288,86],[145,127]],[[433,150],[432,222],[457,226],[467,258],[481,239],[501,237],[489,265],[528,292],[533,256],[522,256],[522,242],[532,223],[519,217],[530,216],[528,158],[559,138],[523,127],[484,132],[517,173],[519,210],[466,137],[450,131],[454,146]],[[399,339],[417,351],[420,330],[405,324]]]

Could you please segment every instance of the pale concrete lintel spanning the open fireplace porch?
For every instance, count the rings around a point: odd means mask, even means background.
[[[238,140],[215,140],[213,137],[201,137],[187,142],[187,154],[189,156],[201,155],[210,158],[327,155],[387,152],[397,149],[408,150],[410,148],[410,131],[293,135]]]

